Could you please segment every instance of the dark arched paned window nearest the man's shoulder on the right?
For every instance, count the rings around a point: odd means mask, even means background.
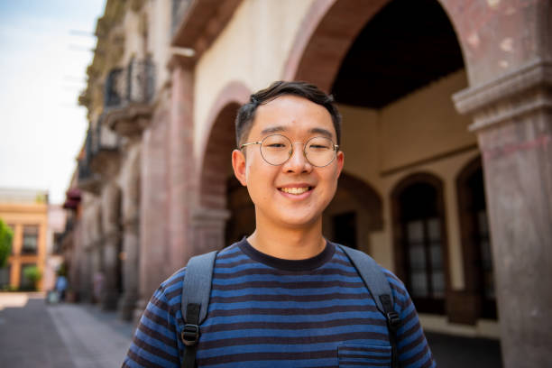
[[[422,189],[431,189],[435,191],[435,203],[433,203],[433,208],[431,208],[430,203],[423,203],[416,207],[412,207],[413,204],[408,203],[408,201],[404,199],[403,195],[406,195],[409,190],[416,188],[416,186]],[[407,208],[407,205],[410,207]],[[417,211],[421,216],[416,216]],[[430,217],[431,219],[429,219]],[[450,290],[450,277],[443,181],[436,175],[428,172],[413,173],[401,179],[391,191],[391,218],[395,270],[397,271],[397,275],[407,284],[407,288],[412,293],[412,299],[421,312],[445,314],[446,297]],[[437,223],[435,219],[437,219]],[[437,224],[437,227],[433,227],[433,234],[437,232],[437,239],[432,239],[433,235],[431,235],[430,231],[430,222],[434,225]],[[419,234],[421,234],[421,239],[416,240],[416,244],[423,248],[422,252],[424,253],[421,255],[428,285],[428,296],[425,297],[416,295],[416,289],[412,281],[416,271],[414,270],[411,272],[411,270],[413,270],[413,262],[417,260],[410,259],[409,256],[409,253],[412,252],[411,247],[414,244],[412,240],[413,236],[410,236],[410,225],[418,225]],[[440,249],[440,264],[437,262],[437,273],[440,273],[438,267],[442,267],[444,282],[442,294],[438,296],[434,293],[434,289],[432,289],[433,281],[430,280],[436,275],[436,272],[433,270],[433,262],[437,259],[433,256],[434,250],[432,245],[434,245],[434,242],[440,243],[440,248],[437,248]]]

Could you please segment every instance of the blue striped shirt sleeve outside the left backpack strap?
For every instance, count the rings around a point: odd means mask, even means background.
[[[167,294],[163,285],[153,294],[136,327],[123,367],[179,368],[178,323]]]

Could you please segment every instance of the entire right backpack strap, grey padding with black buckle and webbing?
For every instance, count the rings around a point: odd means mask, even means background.
[[[399,313],[393,308],[393,294],[387,277],[380,265],[371,256],[348,246],[337,244],[353,262],[354,268],[363,279],[364,285],[370,291],[376,307],[387,320],[389,342],[391,344],[391,366],[399,367],[397,351],[397,330],[400,327]]]

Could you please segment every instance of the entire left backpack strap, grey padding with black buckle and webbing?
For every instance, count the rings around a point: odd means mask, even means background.
[[[182,368],[194,368],[196,366],[199,325],[207,317],[216,253],[218,251],[192,257],[186,266],[180,303],[182,317],[185,322],[180,338],[182,343],[186,345]]]

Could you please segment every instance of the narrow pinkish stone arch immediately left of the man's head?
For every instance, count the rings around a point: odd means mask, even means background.
[[[243,83],[231,82],[210,109],[206,133],[199,143],[203,147],[198,158],[200,207],[225,209],[230,152],[235,147],[235,115],[250,95]]]

